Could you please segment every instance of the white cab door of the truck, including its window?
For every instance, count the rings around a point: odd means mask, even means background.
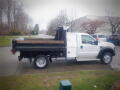
[[[78,35],[77,58],[80,61],[95,60],[100,47],[96,39],[90,35]]]

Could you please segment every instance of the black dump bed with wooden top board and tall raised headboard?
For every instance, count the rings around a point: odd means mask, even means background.
[[[54,39],[23,39],[13,40],[12,50],[15,51],[61,51],[66,47],[66,31],[59,29]]]

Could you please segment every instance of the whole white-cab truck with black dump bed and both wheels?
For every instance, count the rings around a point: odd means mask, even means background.
[[[52,62],[53,57],[65,57],[65,60],[72,58],[76,61],[99,60],[109,64],[115,55],[115,46],[109,42],[99,42],[87,33],[59,29],[54,39],[13,40],[11,51],[13,54],[20,52],[20,61],[28,58],[35,67],[42,69]]]

